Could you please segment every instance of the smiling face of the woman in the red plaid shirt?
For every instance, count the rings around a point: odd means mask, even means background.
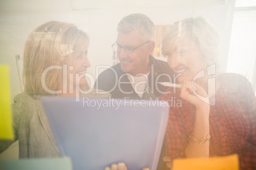
[[[176,82],[192,81],[193,77],[206,67],[203,55],[196,42],[185,38],[166,51],[167,63],[176,74]],[[173,81],[174,82],[174,81]]]

